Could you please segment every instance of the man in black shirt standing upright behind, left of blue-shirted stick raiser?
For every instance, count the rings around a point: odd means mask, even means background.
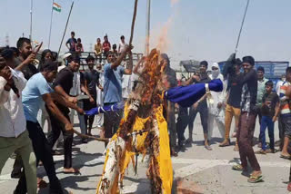
[[[84,102],[84,109],[85,111],[89,111],[92,108],[95,108],[96,105],[96,100],[97,100],[97,90],[96,87],[100,88],[101,90],[103,90],[102,86],[99,83],[99,73],[94,69],[94,64],[95,64],[95,58],[91,55],[89,55],[86,58],[86,63],[88,65],[88,70],[85,71],[85,83],[86,83],[86,87],[87,90],[89,91],[90,95],[93,97],[94,101],[90,101],[90,100],[85,100]],[[95,116],[87,116],[85,115],[85,125],[87,126],[87,121],[89,119],[89,128],[88,128],[88,134],[91,134],[91,130],[92,130],[92,125],[94,122],[94,118]]]

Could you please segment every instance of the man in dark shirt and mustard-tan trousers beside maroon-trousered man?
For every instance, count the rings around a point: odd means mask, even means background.
[[[243,73],[240,72],[241,69],[241,61],[236,59],[235,63],[235,73],[230,74],[228,79],[228,100],[226,103],[226,137],[225,141],[219,144],[220,147],[225,147],[230,145],[229,139],[229,132],[230,126],[233,117],[235,116],[236,121],[236,130],[238,128],[238,121],[240,116],[240,102],[241,102],[241,95],[242,95],[242,85],[239,84],[239,81],[243,79]],[[238,150],[237,143],[235,150]]]

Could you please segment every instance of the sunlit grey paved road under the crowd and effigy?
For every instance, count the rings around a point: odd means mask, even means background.
[[[276,124],[277,125],[277,124]],[[78,130],[78,128],[76,127]],[[255,136],[258,137],[258,124],[256,125]],[[276,140],[278,130],[276,127]],[[98,129],[93,131],[97,135]],[[218,143],[222,141],[218,130],[214,129],[213,150],[206,150],[203,146],[203,134],[200,119],[195,122],[195,142],[184,152],[179,152],[178,157],[172,158],[175,178],[183,178],[186,181],[195,182],[196,187],[203,190],[203,193],[229,193],[229,194],[284,194],[289,175],[290,161],[279,158],[276,154],[259,155],[257,159],[262,167],[264,181],[251,184],[247,183],[246,175],[231,170],[231,165],[239,160],[238,152],[233,151],[234,146],[219,148]],[[187,136],[187,130],[186,130]],[[268,139],[267,139],[268,140]],[[235,141],[235,140],[233,140]],[[80,175],[65,175],[62,173],[63,156],[55,156],[55,168],[57,176],[67,190],[77,194],[95,193],[96,184],[103,170],[105,157],[103,156],[104,144],[98,141],[90,141],[87,144],[80,144],[78,138],[74,141],[75,167],[81,169]],[[255,150],[258,148],[255,146]],[[10,179],[14,160],[9,159],[0,176],[0,193],[13,193],[17,179]],[[40,177],[45,176],[43,167],[38,168]],[[125,173],[125,187],[123,193],[150,193],[150,185],[146,179],[146,162],[138,163],[137,175],[130,167]],[[47,189],[39,190],[39,193],[48,193]]]

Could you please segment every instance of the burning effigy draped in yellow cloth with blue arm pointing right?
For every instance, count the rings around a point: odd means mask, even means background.
[[[106,147],[105,165],[96,193],[119,193],[130,162],[136,166],[135,154],[148,154],[146,176],[152,193],[171,193],[173,168],[166,122],[166,101],[189,106],[206,92],[222,91],[222,82],[198,83],[166,91],[166,63],[153,49],[139,75],[135,91],[125,102],[124,119]]]

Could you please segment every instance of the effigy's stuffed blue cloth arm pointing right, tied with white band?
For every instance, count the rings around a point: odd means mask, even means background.
[[[175,87],[165,92],[165,98],[170,102],[178,103],[182,107],[189,107],[203,97],[207,91],[222,92],[223,82],[216,79],[209,83]]]

